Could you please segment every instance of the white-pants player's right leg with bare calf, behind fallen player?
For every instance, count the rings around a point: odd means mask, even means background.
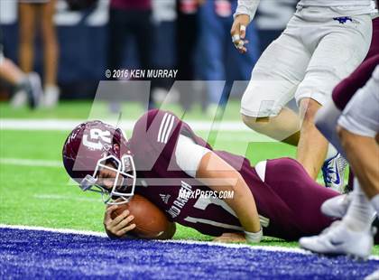
[[[315,114],[325,105],[337,83],[365,59],[371,42],[370,17],[357,16],[355,20],[360,23],[358,27],[326,23],[330,32],[313,52],[305,78],[295,93],[304,116],[297,159],[312,178],[317,177],[328,151],[327,140],[314,125]],[[342,178],[338,181],[342,182]]]

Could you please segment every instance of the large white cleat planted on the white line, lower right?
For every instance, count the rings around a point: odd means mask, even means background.
[[[366,259],[374,246],[373,236],[374,230],[354,231],[344,222],[335,221],[318,236],[300,238],[299,243],[300,247],[313,253]]]

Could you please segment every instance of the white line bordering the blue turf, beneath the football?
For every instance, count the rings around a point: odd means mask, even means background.
[[[49,232],[57,232],[62,234],[78,234],[84,236],[94,236],[100,238],[106,238],[106,234],[91,230],[77,230],[77,229],[51,229],[43,227],[31,227],[22,225],[5,225],[0,224],[0,228],[3,229],[23,229],[23,230],[41,230]],[[251,250],[264,250],[273,252],[287,252],[287,253],[297,253],[302,255],[310,255],[311,253],[297,247],[279,247],[279,246],[249,246],[245,244],[226,244],[226,243],[216,243],[208,241],[193,241],[193,240],[157,240],[155,242],[162,243],[176,243],[176,244],[194,244],[194,245],[207,245],[207,246],[218,246],[218,247],[228,247],[228,248],[248,248]],[[369,257],[372,260],[379,260],[379,256]]]

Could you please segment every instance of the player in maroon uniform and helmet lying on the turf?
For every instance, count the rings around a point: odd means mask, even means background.
[[[172,222],[210,236],[227,233],[224,241],[240,241],[242,234],[247,242],[263,234],[287,240],[319,234],[331,222],[320,205],[337,195],[293,159],[253,167],[242,156],[213,151],[188,124],[162,110],[140,117],[129,141],[120,128],[100,121],[77,126],[63,146],[63,163],[83,191],[102,192],[108,204],[126,202],[135,191]],[[233,197],[180,195],[197,190],[233,191]],[[133,217],[123,215],[116,221],[106,215],[110,236],[134,229]]]

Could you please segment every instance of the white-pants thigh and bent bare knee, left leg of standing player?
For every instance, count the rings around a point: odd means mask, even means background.
[[[246,126],[276,140],[297,145],[300,118],[284,106],[304,78],[310,52],[288,33],[275,40],[256,63],[241,100]]]

